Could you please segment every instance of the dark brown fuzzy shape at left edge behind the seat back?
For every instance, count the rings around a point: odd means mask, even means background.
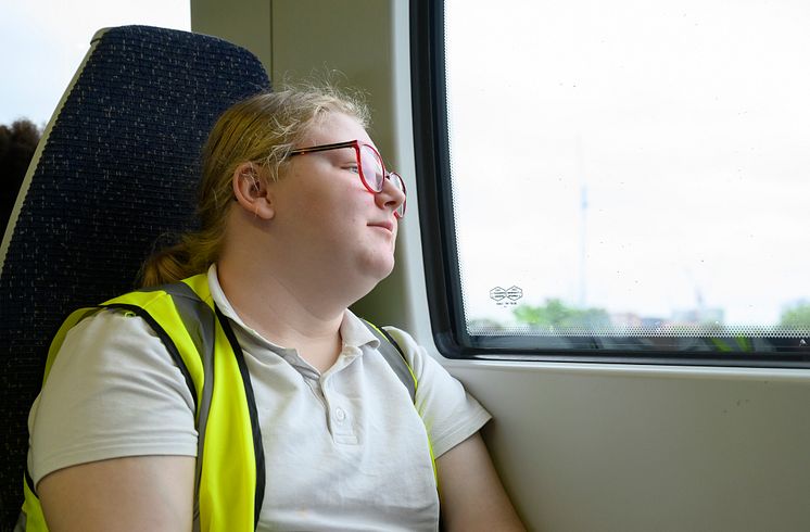
[[[0,125],[0,236],[9,223],[25,173],[39,143],[40,129],[22,118]]]

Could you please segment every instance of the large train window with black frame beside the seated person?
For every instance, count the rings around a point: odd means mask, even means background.
[[[412,2],[447,356],[810,362],[810,4]]]

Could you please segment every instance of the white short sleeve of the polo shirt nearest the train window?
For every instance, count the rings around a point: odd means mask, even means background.
[[[492,416],[464,385],[405,331],[385,327],[400,344],[416,375],[416,408],[428,429],[434,457],[455,447]]]

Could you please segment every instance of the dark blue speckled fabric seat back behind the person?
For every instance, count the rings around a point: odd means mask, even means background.
[[[27,415],[71,309],[134,288],[155,239],[194,225],[199,154],[269,89],[249,51],[147,26],[99,31],[47,126],[0,246],[0,530],[22,504]]]

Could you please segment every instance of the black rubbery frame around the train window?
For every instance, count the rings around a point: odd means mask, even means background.
[[[464,315],[458,261],[454,259],[458,256],[458,245],[450,179],[444,1],[410,0],[409,21],[414,150],[425,278],[433,340],[443,356],[515,362],[810,368],[810,344],[796,345],[795,338],[767,337],[762,340],[768,350],[749,351],[733,346],[721,349],[711,342],[713,337],[708,335],[655,337],[653,346],[641,346],[643,340],[653,337],[470,335]],[[734,337],[719,338],[734,340]]]

